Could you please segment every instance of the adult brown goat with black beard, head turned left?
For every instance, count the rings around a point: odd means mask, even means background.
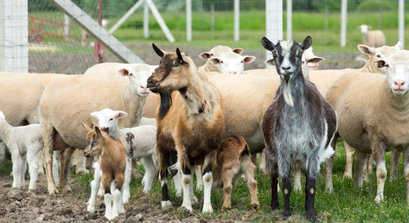
[[[199,74],[192,58],[161,51],[159,67],[148,78],[148,87],[161,96],[157,116],[158,132],[156,153],[162,182],[162,207],[171,206],[168,196],[167,167],[174,165],[182,171],[182,207],[192,210],[192,167],[203,165],[203,212],[213,212],[210,202],[213,177],[212,167],[224,131],[224,109],[217,88]],[[175,153],[175,147],[177,153]]]

